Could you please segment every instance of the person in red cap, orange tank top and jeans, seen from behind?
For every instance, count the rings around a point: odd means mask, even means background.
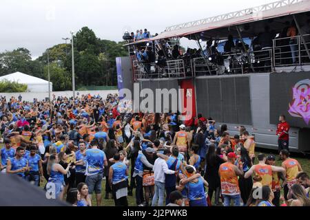
[[[218,175],[220,175],[220,187],[224,197],[224,206],[230,206],[231,199],[234,201],[234,206],[240,206],[240,188],[238,176],[243,175],[243,163],[240,161],[238,166],[234,165],[237,155],[229,153],[227,162],[220,165]]]

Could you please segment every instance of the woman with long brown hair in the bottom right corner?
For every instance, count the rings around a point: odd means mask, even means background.
[[[290,191],[292,196],[292,199],[289,200],[290,206],[310,206],[310,199],[302,186],[293,184]]]

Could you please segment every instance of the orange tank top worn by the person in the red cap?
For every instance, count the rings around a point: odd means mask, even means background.
[[[223,195],[239,195],[238,176],[234,170],[234,164],[226,162],[220,165],[220,187]]]

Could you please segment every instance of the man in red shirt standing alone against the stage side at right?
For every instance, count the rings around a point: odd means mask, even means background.
[[[279,152],[286,149],[289,151],[289,123],[285,121],[285,115],[280,115],[278,124],[278,150]]]

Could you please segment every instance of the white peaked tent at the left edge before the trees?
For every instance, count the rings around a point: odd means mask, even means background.
[[[10,80],[17,83],[23,83],[28,85],[28,91],[32,92],[48,92],[48,81],[21,72],[16,72],[14,74],[8,74],[6,76],[1,76],[1,80]],[[50,91],[52,91],[52,83],[50,83]]]

